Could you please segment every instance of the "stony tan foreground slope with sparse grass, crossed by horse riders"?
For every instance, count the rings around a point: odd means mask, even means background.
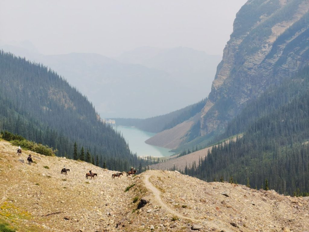
[[[308,198],[207,183],[171,171],[115,171],[0,141],[0,224],[23,231],[306,231]],[[61,168],[70,168],[61,174]],[[98,176],[86,179],[92,169]],[[129,190],[128,190],[129,189]],[[125,191],[128,190],[128,191]],[[134,203],[133,203],[134,202]],[[144,204],[140,204],[143,202]],[[143,207],[139,207],[138,204]]]

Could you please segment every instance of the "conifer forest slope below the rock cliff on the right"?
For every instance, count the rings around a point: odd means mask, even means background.
[[[279,193],[309,193],[309,68],[248,104],[222,136],[241,131],[242,138],[214,146],[184,173],[257,188],[267,179]]]

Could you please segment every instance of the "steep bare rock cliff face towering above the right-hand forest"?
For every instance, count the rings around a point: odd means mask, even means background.
[[[308,64],[308,9],[308,0],[250,0],[239,10],[200,121],[187,132],[196,141],[184,136],[181,146],[221,134],[248,101]],[[155,145],[170,144],[176,130],[170,135]]]

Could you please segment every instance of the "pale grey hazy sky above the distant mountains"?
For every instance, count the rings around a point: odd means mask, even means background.
[[[222,54],[246,1],[0,0],[0,42],[28,40],[42,54],[117,56],[141,46]]]

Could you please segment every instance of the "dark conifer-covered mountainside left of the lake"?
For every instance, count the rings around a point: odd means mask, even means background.
[[[99,121],[94,106],[57,73],[0,52],[0,131],[57,149],[73,158],[74,142],[113,170],[138,166],[120,132]],[[80,156],[80,155],[79,155]]]

